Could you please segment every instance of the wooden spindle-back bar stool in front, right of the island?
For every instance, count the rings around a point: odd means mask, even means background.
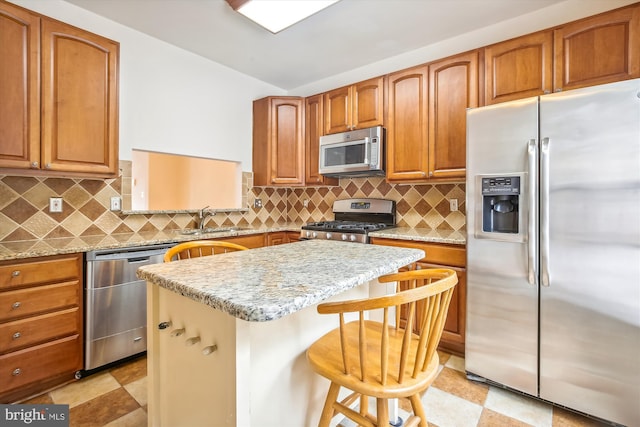
[[[389,274],[378,281],[403,282],[409,289],[388,296],[318,305],[318,313],[337,313],[340,317],[340,327],[307,350],[311,368],[331,381],[318,423],[321,427],[328,426],[337,414],[362,426],[388,426],[388,399],[401,397],[409,399],[414,413],[405,427],[428,425],[420,393],[438,373],[436,348],[458,277],[453,270],[437,268]],[[395,325],[390,321],[392,307]],[[381,322],[368,320],[373,317],[372,310],[382,311]],[[402,327],[401,311],[406,316]],[[358,320],[345,322],[345,313],[358,313]],[[341,387],[352,393],[339,401]],[[369,413],[368,397],[376,399],[377,416]],[[352,408],[358,399],[359,411]]]

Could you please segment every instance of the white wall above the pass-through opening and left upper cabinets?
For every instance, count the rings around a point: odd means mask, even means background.
[[[61,0],[11,0],[120,43],[120,158],[131,149],[252,168],[252,101],[285,92]]]

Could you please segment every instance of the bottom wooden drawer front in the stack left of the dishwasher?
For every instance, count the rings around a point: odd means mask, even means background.
[[[0,394],[82,369],[79,335],[0,356]]]

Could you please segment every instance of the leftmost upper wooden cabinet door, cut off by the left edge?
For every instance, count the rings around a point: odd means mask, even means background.
[[[0,3],[0,167],[40,163],[40,18]]]

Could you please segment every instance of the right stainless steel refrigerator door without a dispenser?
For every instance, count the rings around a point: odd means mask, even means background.
[[[637,426],[640,80],[544,96],[540,117],[540,397]]]

